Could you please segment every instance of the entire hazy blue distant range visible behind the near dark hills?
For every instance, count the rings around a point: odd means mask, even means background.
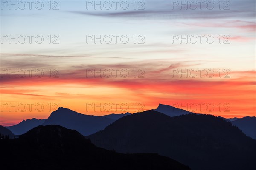
[[[192,112],[175,108],[169,105],[159,104],[157,109],[154,109],[160,113],[164,113],[168,116],[180,116],[184,114],[191,114]],[[58,110],[51,113],[48,119],[27,119],[23,120],[17,125],[6,127],[12,131],[15,135],[26,133],[28,130],[37,127],[38,125],[61,125],[63,127],[77,130],[84,136],[96,133],[99,130],[103,130],[109,124],[115,122],[117,119],[123,116],[129,116],[131,113],[122,114],[109,114],[105,116],[93,116],[77,113],[68,108],[58,108]],[[242,119],[231,118],[226,119],[220,117],[227,122],[231,122],[241,129],[247,136],[256,139],[256,117],[245,117]]]

